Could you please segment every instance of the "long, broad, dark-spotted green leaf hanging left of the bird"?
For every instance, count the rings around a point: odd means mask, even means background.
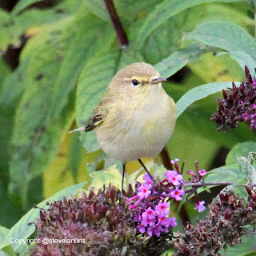
[[[110,25],[85,8],[81,6],[73,20],[54,24],[32,38],[22,51],[22,63],[28,64],[14,122],[9,191],[26,209],[40,202],[29,196],[31,186],[53,160],[63,132],[74,120],[78,75],[88,59],[102,51],[102,43],[108,49],[114,38]]]

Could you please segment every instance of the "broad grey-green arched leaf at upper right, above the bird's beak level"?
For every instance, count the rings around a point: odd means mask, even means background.
[[[194,39],[209,46],[215,46],[230,52],[230,57],[234,58],[242,69],[245,63],[249,63],[250,68],[256,62],[256,40],[246,32],[241,26],[231,22],[210,21],[203,22],[186,39]],[[246,57],[248,61],[246,60]],[[255,67],[255,66],[254,66]],[[250,69],[254,71],[254,69]]]

